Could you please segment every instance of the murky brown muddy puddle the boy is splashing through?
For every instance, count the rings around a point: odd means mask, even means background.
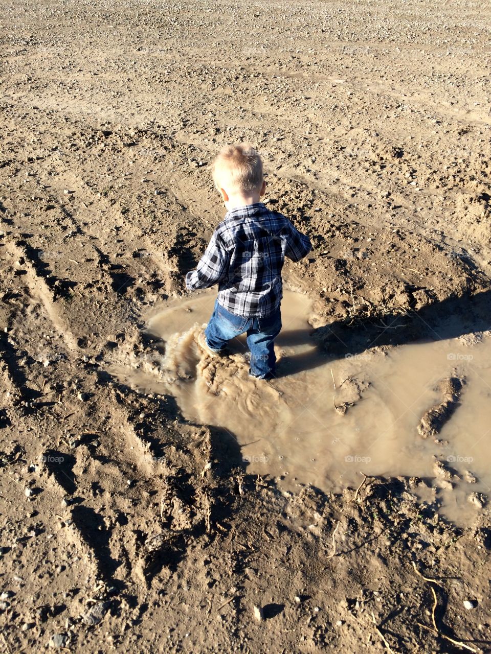
[[[312,302],[285,290],[280,376],[267,383],[249,377],[244,337],[222,358],[196,344],[215,297],[205,292],[154,311],[155,351],[111,371],[142,392],[172,394],[185,419],[225,428],[247,472],[278,477],[285,490],[310,483],[338,492],[357,487],[361,472],[422,477],[431,487],[415,489],[422,500],[437,500],[456,523],[472,522],[479,508],[469,495],[491,490],[491,337],[333,358],[312,342]],[[460,402],[441,432],[423,439],[418,423],[441,400],[438,383],[452,370],[465,376]],[[450,471],[446,479],[435,458]]]

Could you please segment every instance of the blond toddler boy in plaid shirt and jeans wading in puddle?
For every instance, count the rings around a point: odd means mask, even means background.
[[[212,175],[227,213],[196,270],[186,275],[191,290],[218,284],[213,314],[198,341],[215,356],[224,353],[230,339],[247,332],[249,375],[272,379],[274,339],[282,328],[283,262],[285,256],[299,261],[312,245],[285,216],[260,201],[266,182],[254,148],[245,144],[223,148]]]

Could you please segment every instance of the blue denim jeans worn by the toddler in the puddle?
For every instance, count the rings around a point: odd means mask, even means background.
[[[247,345],[251,351],[249,374],[264,379],[274,375],[274,339],[282,328],[280,309],[266,318],[244,318],[230,313],[218,301],[205,330],[210,350],[221,352],[232,338],[247,332]]]

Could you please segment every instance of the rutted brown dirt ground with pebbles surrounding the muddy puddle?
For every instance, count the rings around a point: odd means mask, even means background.
[[[145,353],[145,310],[186,294],[224,211],[208,164],[242,140],[268,205],[312,239],[284,277],[318,301],[327,350],[449,313],[472,332],[490,308],[490,10],[0,11],[0,648],[491,651],[484,498],[459,528],[416,501],[432,479],[284,492],[106,366]],[[399,315],[403,334],[381,326]]]

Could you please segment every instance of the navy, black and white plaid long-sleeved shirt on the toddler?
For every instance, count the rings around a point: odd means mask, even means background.
[[[219,304],[242,317],[264,318],[283,297],[285,256],[299,261],[312,245],[281,213],[262,202],[228,211],[208,243],[187,288],[218,286]]]

